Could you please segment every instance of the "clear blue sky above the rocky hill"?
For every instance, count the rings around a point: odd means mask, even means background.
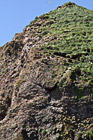
[[[36,16],[45,14],[66,2],[93,10],[93,0],[0,0],[0,46],[12,40]]]

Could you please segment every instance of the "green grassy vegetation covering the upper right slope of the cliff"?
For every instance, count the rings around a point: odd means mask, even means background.
[[[39,32],[47,39],[47,43],[40,47],[41,53],[64,58],[65,71],[71,68],[71,75],[64,79],[64,83],[76,97],[82,97],[86,92],[92,94],[93,11],[69,2],[38,17],[37,21],[40,18],[45,22]],[[52,78],[60,76],[57,72],[52,70]]]

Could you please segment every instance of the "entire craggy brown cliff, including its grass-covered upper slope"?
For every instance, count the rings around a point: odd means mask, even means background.
[[[93,11],[66,3],[0,48],[0,140],[93,139]]]

